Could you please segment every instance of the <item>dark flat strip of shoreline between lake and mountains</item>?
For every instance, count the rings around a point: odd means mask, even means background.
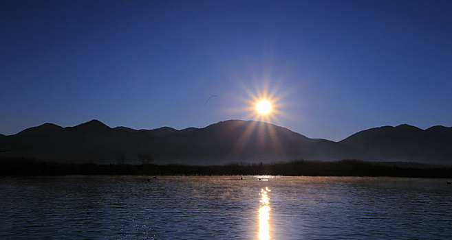
[[[279,163],[229,165],[96,165],[63,164],[31,158],[0,159],[0,176],[356,176],[452,178],[452,167],[417,163],[374,163],[363,160],[323,162],[292,160]]]

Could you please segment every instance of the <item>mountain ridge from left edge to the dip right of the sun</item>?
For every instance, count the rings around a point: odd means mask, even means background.
[[[309,139],[270,123],[228,120],[206,128],[133,130],[92,120],[74,127],[45,123],[5,136],[3,156],[73,163],[139,163],[151,153],[157,163],[223,164],[292,160],[340,160],[361,156],[351,147]]]

